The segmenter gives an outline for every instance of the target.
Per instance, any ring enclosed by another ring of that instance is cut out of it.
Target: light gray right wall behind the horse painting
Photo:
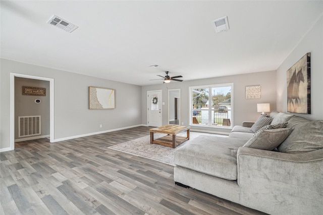
[[[323,18],[307,32],[277,69],[277,110],[287,113],[287,70],[311,52],[311,114],[295,114],[310,120],[323,119]]]

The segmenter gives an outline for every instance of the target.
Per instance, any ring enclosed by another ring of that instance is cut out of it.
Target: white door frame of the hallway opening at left
[[[49,139],[50,142],[54,141],[54,126],[53,126],[53,118],[54,118],[54,80],[50,78],[43,78],[37,76],[29,76],[23,74],[10,74],[10,150],[15,149],[15,118],[18,117],[15,114],[15,78],[25,78],[25,79],[32,79],[32,80],[41,80],[41,81],[48,81],[49,82]],[[37,97],[38,98],[38,97]],[[36,99],[35,99],[36,100]],[[40,100],[41,101],[41,100]],[[35,101],[38,102],[39,101]]]

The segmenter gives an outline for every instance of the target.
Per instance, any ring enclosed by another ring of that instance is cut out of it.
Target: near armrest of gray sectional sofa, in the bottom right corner
[[[270,214],[323,211],[323,149],[286,154],[240,147],[240,203]]]

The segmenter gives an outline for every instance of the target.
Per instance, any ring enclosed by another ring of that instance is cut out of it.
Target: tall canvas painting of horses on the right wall
[[[287,70],[287,111],[311,113],[311,60],[306,53]]]

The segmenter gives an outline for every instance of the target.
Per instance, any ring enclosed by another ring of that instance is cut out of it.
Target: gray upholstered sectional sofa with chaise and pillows
[[[199,135],[178,148],[176,184],[265,213],[323,214],[323,120],[270,117],[267,127],[286,128],[254,133],[244,122],[229,136]]]

